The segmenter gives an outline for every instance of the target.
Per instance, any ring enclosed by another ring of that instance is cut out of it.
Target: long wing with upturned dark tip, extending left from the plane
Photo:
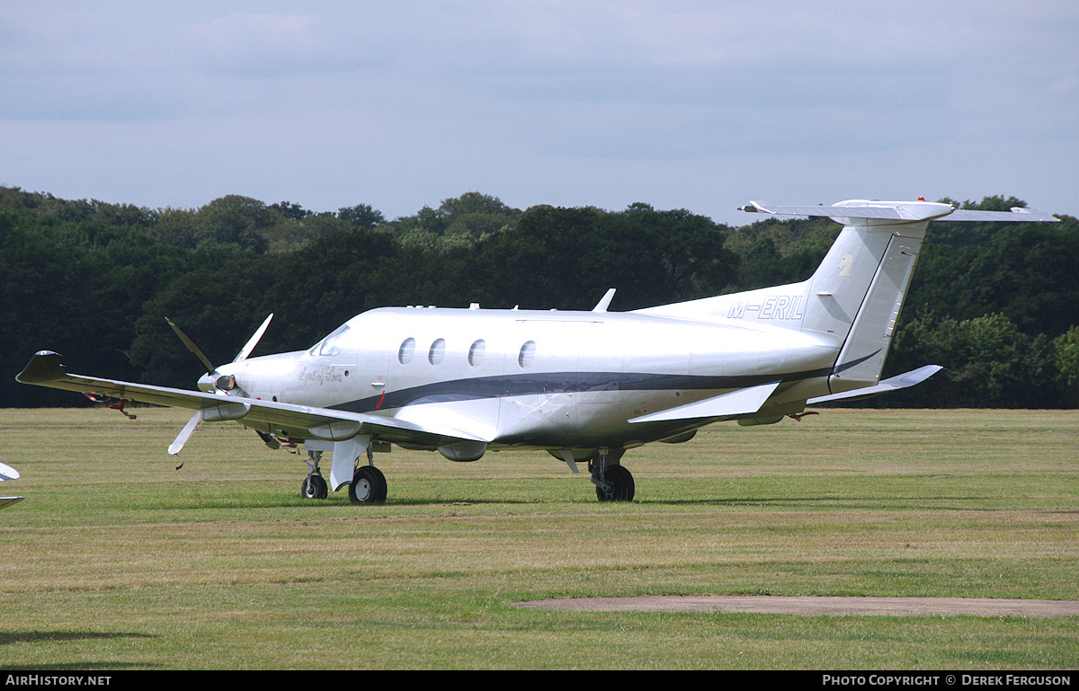
[[[356,434],[372,434],[393,443],[433,446],[459,441],[490,441],[464,430],[437,424],[421,426],[382,415],[69,374],[60,365],[59,356],[49,350],[36,354],[15,378],[23,384],[54,389],[186,407],[199,411],[202,419],[207,421],[238,420],[256,430],[279,429],[285,430],[289,437],[303,439],[314,438],[336,442],[351,439]]]

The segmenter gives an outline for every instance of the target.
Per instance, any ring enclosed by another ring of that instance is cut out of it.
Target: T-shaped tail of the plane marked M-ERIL
[[[742,211],[828,217],[843,224],[814,275],[800,284],[639,309],[641,314],[728,320],[812,334],[838,354],[831,393],[877,384],[930,221],[1054,222],[1041,211],[954,209],[925,202],[855,199],[832,206],[751,202]]]

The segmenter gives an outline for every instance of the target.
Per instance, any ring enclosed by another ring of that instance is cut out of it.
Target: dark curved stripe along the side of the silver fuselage
[[[740,389],[775,382],[777,378],[780,378],[782,382],[797,382],[814,377],[827,377],[830,372],[831,368],[791,372],[781,375],[745,374],[735,376],[625,372],[536,372],[534,374],[505,374],[500,376],[453,379],[452,382],[434,382],[399,391],[386,391],[356,401],[331,405],[330,407],[351,413],[369,413],[377,407],[379,410],[387,410],[420,403],[470,401],[535,393]]]

